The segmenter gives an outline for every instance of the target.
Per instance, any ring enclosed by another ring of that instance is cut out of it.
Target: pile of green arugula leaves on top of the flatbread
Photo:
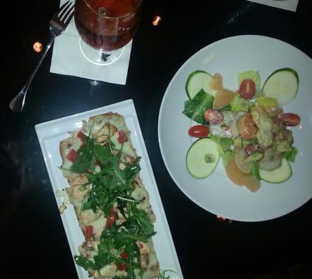
[[[138,202],[132,199],[135,188],[134,181],[140,171],[140,157],[134,162],[127,163],[122,159],[122,149],[115,149],[108,135],[108,144],[101,145],[96,139],[85,136],[85,144],[78,149],[78,158],[71,166],[71,171],[83,173],[87,177],[86,185],[91,185],[82,210],[103,211],[110,216],[111,207],[118,204],[118,209],[126,219],[122,224],[114,223],[104,229],[101,234],[97,255],[93,259],[76,256],[75,261],[84,269],[99,270],[111,262],[127,264],[125,279],[134,278],[134,269],[143,274],[141,269],[140,250],[136,241],[146,242],[155,234],[153,223],[148,213],[137,208]],[[120,168],[120,163],[123,167]],[[101,165],[101,170],[95,172],[95,165]],[[86,172],[86,170],[91,172]],[[120,254],[127,252],[127,257]],[[118,276],[115,278],[118,278]]]

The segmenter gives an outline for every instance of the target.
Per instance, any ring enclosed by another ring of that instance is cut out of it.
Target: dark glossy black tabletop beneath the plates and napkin
[[[0,110],[2,274],[77,278],[34,125],[132,98],[184,277],[311,278],[311,200],[274,220],[221,222],[173,183],[157,139],[166,86],[202,47],[229,36],[256,34],[283,40],[311,57],[309,1],[299,0],[294,13],[238,0],[146,0],[125,86],[106,82],[93,86],[87,79],[52,74],[49,52],[20,114],[10,112],[8,103],[40,58],[33,43],[48,42],[48,24],[59,1],[9,5],[10,13],[1,18],[5,34]],[[153,27],[151,20],[157,14],[162,24]]]

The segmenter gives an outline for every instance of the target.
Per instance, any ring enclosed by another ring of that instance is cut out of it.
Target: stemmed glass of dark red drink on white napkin
[[[142,1],[76,0],[75,24],[86,59],[105,66],[120,58],[139,27]]]

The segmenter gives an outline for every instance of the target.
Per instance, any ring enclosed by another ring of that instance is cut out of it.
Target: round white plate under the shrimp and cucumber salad
[[[290,179],[276,184],[261,181],[260,190],[251,193],[227,178],[221,160],[211,176],[194,179],[185,167],[185,155],[194,142],[187,134],[194,122],[182,113],[188,75],[194,70],[220,73],[224,87],[236,90],[236,74],[243,70],[260,70],[263,84],[274,70],[285,67],[297,71],[299,92],[283,109],[302,119],[299,126],[292,128],[298,154]],[[173,181],[206,211],[250,222],[290,213],[312,197],[312,59],[292,45],[265,36],[234,36],[204,47],[180,67],[167,87],[159,111],[158,137]]]

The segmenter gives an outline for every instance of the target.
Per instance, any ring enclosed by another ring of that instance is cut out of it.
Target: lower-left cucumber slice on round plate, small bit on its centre
[[[204,179],[218,165],[220,158],[219,145],[208,137],[194,142],[186,154],[186,167],[192,176]]]

